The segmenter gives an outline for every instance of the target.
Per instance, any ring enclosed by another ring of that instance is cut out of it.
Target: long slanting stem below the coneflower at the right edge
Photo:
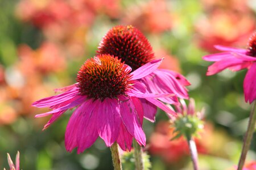
[[[251,138],[253,138],[253,133],[254,133],[255,124],[256,124],[255,105],[256,105],[256,100],[254,101],[253,108],[251,108],[249,124],[247,127],[245,138],[243,139],[243,148],[242,148],[237,170],[242,170],[243,164],[245,164],[247,152],[251,145]]]

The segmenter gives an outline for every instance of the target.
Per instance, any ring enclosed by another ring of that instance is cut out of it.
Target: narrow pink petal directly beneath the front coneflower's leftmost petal
[[[59,113],[62,111],[67,111],[67,109],[76,107],[77,105],[80,105],[82,102],[84,102],[84,100],[86,99],[86,96],[77,96],[76,100],[72,101],[71,103],[68,103],[67,105],[60,107],[60,108],[56,108],[52,111],[46,112],[46,113],[42,113],[42,114],[36,114],[36,118],[38,117],[44,117],[44,116],[48,116],[49,114],[53,114],[53,113]]]

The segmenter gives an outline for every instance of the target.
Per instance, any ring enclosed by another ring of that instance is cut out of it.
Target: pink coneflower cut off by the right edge
[[[243,80],[245,101],[252,103],[256,99],[256,32],[250,37],[247,49],[232,48],[216,45],[216,49],[222,53],[204,56],[206,61],[214,63],[208,67],[207,75],[219,73],[224,69],[239,71],[248,69]]]

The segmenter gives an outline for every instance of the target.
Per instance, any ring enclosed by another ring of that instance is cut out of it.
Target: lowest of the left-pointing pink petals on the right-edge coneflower
[[[222,59],[221,61],[217,61],[208,67],[207,75],[213,75],[219,73],[220,71],[227,69],[229,67],[242,65],[244,63],[243,60],[237,58],[228,58]]]

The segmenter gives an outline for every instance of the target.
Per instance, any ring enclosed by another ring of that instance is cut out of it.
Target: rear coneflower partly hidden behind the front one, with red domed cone
[[[137,70],[154,59],[154,52],[150,42],[137,28],[132,25],[119,25],[109,30],[98,46],[97,54],[117,56],[132,71]],[[147,91],[154,94],[170,93],[176,96],[159,97],[159,100],[168,104],[179,104],[177,97],[188,99],[185,86],[190,83],[183,75],[166,69],[156,69],[151,74],[138,79],[147,87]],[[140,99],[146,111],[144,116],[154,122],[156,107],[147,100]]]

